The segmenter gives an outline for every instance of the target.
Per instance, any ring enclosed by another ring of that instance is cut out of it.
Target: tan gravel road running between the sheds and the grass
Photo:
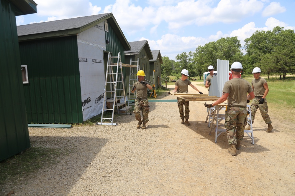
[[[29,128],[32,146],[66,149],[68,155],[17,184],[0,186],[0,195],[295,195],[294,121],[285,124],[270,111],[274,129],[266,133],[258,112],[255,144],[245,134],[232,156],[225,133],[217,143],[209,135],[206,109],[190,102],[190,126],[180,123],[176,102],[150,102],[145,130],[136,128],[134,114],[120,115],[117,126]]]

